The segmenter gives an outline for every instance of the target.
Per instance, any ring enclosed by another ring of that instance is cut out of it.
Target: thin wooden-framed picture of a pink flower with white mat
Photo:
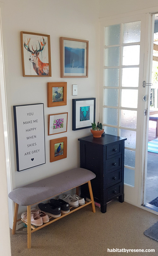
[[[51,114],[48,117],[48,135],[67,132],[68,112]]]

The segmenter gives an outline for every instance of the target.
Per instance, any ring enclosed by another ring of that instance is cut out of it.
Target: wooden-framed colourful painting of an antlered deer
[[[21,31],[23,77],[51,77],[50,36]]]

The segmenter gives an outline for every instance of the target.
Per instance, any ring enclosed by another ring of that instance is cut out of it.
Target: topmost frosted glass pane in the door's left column
[[[121,25],[112,25],[106,27],[105,30],[105,45],[119,44]]]

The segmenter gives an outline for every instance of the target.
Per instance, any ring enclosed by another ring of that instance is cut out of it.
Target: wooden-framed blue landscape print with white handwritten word
[[[60,37],[60,77],[88,77],[89,41]]]

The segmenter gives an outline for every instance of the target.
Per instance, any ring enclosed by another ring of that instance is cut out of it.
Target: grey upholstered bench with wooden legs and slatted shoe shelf
[[[95,178],[95,174],[87,169],[75,168],[62,172],[46,179],[39,180],[37,182],[25,185],[9,193],[9,198],[15,202],[14,222],[12,234],[15,234],[16,223],[22,219],[17,219],[19,205],[27,206],[27,247],[31,248],[31,233],[35,232],[58,219],[65,217],[66,215],[75,212],[82,207],[92,204],[92,210],[95,212],[95,205],[91,187],[91,179]],[[88,183],[89,193],[91,201],[86,202],[85,205],[81,205],[77,208],[70,207],[70,212],[61,214],[60,217],[53,219],[50,217],[50,221],[39,227],[31,225],[31,206],[38,204],[44,200],[55,197],[61,193],[64,193],[70,189],[76,188],[78,193],[78,187]],[[52,219],[52,220],[51,220]]]

